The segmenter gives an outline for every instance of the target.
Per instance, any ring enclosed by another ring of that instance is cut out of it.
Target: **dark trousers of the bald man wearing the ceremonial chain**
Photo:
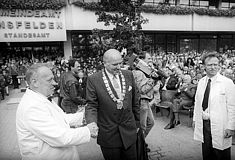
[[[136,143],[129,148],[106,148],[101,146],[105,160],[137,160]]]

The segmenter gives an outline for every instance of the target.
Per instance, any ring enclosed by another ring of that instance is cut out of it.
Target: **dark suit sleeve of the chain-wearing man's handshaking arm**
[[[85,109],[86,122],[97,123],[98,98],[91,77],[87,78],[86,100],[87,100],[87,106]]]

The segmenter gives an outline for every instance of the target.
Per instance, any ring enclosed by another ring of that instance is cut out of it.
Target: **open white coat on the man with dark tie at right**
[[[195,96],[194,139],[203,142],[202,101],[207,85],[207,78],[203,77],[197,86]],[[224,150],[231,147],[232,137],[224,138],[225,129],[235,129],[235,85],[219,73],[215,81],[211,82],[209,96],[209,114],[213,148]]]

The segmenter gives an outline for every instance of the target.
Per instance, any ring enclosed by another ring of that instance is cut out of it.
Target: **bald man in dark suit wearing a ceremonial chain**
[[[97,143],[106,160],[136,160],[139,104],[131,71],[121,70],[122,57],[110,49],[104,69],[88,77],[86,121],[96,122]]]

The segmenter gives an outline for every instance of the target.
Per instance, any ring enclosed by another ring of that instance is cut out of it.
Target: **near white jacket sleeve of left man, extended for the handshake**
[[[63,114],[37,104],[28,108],[23,116],[27,128],[50,146],[66,147],[89,142],[88,127],[70,128]]]

